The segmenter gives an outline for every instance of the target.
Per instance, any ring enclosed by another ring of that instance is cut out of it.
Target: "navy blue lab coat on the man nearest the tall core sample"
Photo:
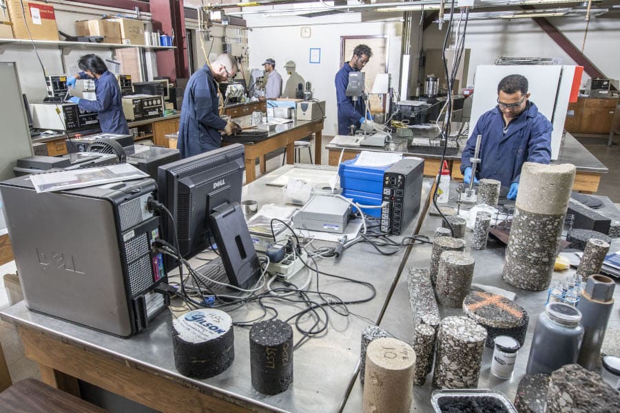
[[[552,130],[549,120],[532,102],[506,127],[504,116],[496,106],[480,116],[467,140],[461,156],[461,173],[471,167],[469,158],[475,153],[476,136],[482,134],[477,178],[496,179],[502,186],[510,187],[513,182],[519,182],[524,162],[548,164],[551,161]]]

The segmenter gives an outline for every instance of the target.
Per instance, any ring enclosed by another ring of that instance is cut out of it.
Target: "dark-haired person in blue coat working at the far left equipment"
[[[87,100],[72,96],[69,100],[80,109],[88,112],[97,112],[99,126],[105,134],[129,134],[127,120],[123,114],[121,102],[121,87],[118,86],[116,76],[107,71],[103,60],[95,54],[85,54],[78,61],[78,67],[83,71],[74,76],[67,76],[67,86],[75,87],[77,79],[93,78],[95,82],[96,100]]]

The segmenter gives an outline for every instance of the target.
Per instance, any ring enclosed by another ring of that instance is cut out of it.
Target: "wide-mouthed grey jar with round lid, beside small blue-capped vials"
[[[583,327],[581,313],[564,303],[549,303],[534,329],[527,374],[551,374],[566,364],[577,363]]]

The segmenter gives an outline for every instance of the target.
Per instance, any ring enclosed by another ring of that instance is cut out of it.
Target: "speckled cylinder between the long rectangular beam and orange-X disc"
[[[460,308],[469,294],[475,260],[459,251],[446,251],[440,256],[435,295],[440,304]]]

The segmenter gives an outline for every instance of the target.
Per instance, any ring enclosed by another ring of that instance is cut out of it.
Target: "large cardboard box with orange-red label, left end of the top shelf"
[[[59,40],[54,6],[39,1],[23,0],[22,10],[20,0],[8,0],[6,3],[9,17],[13,23],[15,39],[30,39],[28,35],[28,29],[30,29],[30,34],[34,40]],[[28,28],[26,24],[28,24]]]

